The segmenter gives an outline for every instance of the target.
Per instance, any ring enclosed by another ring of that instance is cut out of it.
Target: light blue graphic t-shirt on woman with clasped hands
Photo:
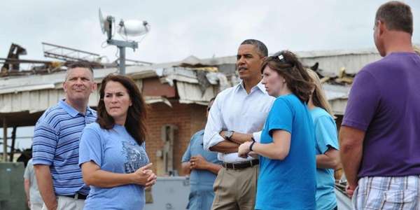
[[[123,125],[114,125],[111,130],[102,129],[98,123],[86,125],[79,148],[79,165],[93,161],[102,170],[116,174],[136,172],[149,162],[145,143],[137,144]],[[144,204],[144,186],[91,186],[83,209],[144,209]]]

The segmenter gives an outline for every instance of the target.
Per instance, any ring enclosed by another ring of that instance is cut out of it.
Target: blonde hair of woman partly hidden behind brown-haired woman
[[[309,77],[311,77],[312,83],[314,83],[315,90],[311,94],[312,102],[315,106],[320,107],[327,111],[330,116],[334,117],[334,113],[332,113],[331,105],[328,103],[327,97],[325,97],[325,92],[322,89],[321,80],[319,79],[318,75],[315,71],[311,69],[307,69]]]

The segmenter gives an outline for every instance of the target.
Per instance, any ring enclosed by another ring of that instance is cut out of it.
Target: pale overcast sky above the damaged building
[[[1,0],[0,57],[18,43],[28,52],[22,59],[47,59],[41,45],[47,42],[115,60],[115,46],[102,48],[99,7],[117,21],[150,23],[139,49],[127,49],[127,58],[147,62],[235,55],[246,38],[263,41],[269,52],[373,48],[374,13],[384,2]],[[420,1],[405,2],[414,13],[413,41],[420,43]]]

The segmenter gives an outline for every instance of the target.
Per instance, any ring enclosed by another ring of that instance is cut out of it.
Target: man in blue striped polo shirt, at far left
[[[43,209],[83,209],[89,187],[78,167],[78,148],[83,128],[96,120],[96,111],[87,106],[96,87],[88,64],[72,64],[63,83],[65,98],[35,125],[32,162]]]

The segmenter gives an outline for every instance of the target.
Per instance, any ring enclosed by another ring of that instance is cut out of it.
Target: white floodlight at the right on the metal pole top
[[[141,36],[150,31],[148,22],[141,20],[121,20],[118,25],[118,34],[123,36]]]

